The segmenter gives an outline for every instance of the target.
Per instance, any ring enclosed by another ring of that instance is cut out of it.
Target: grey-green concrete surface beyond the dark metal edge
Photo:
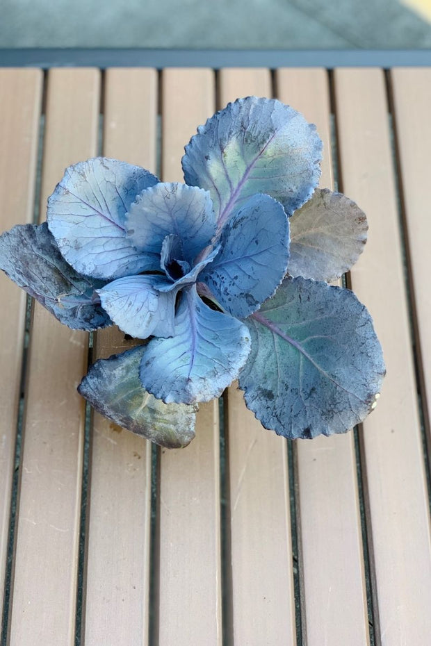
[[[431,25],[397,0],[0,0],[0,47],[420,49]]]

